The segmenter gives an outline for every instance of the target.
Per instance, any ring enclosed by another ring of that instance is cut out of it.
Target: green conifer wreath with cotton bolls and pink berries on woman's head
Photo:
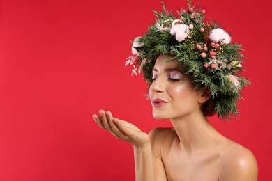
[[[229,33],[220,24],[206,21],[205,10],[192,6],[181,9],[176,17],[172,11],[153,11],[156,22],[147,33],[133,41],[133,55],[125,65],[133,65],[132,74],[143,72],[146,82],[152,82],[152,69],[160,55],[172,55],[166,62],[176,59],[192,73],[195,88],[209,86],[213,99],[213,110],[222,120],[238,116],[237,100],[241,89],[250,84],[241,76],[244,71],[241,45],[231,43]]]

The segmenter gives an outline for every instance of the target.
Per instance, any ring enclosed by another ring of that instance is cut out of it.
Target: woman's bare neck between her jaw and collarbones
[[[221,136],[202,114],[171,120],[179,137],[179,148],[192,153],[213,148]]]

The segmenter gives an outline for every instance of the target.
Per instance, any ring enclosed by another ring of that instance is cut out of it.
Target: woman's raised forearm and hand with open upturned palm
[[[133,145],[136,180],[155,180],[149,135],[131,123],[114,118],[109,111],[99,113],[100,117],[93,115],[93,119],[102,129]]]

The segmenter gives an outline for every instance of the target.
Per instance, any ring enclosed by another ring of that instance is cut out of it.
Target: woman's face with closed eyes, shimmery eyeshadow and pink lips
[[[156,119],[175,119],[199,113],[199,93],[194,89],[192,77],[184,74],[181,63],[165,61],[169,56],[159,56],[153,68],[153,81],[149,97]]]

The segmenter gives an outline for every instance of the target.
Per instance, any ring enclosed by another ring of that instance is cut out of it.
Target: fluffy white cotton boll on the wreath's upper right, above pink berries
[[[231,38],[223,29],[213,29],[209,35],[212,42],[220,42],[221,44],[229,44]]]

